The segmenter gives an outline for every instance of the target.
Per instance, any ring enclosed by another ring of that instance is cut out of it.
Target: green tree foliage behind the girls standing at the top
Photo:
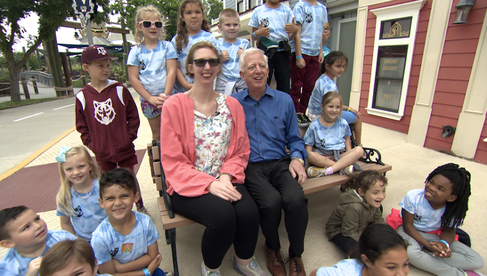
[[[112,14],[120,14],[125,20],[126,27],[130,28],[132,33],[135,33],[134,20],[137,8],[147,5],[156,6],[164,19],[167,20],[165,40],[170,41],[172,37],[176,36],[180,3],[180,0],[115,0],[110,5],[110,10]],[[203,6],[206,12],[205,16],[211,23],[212,19],[218,18],[218,14],[223,9],[223,2],[222,0],[203,0]]]

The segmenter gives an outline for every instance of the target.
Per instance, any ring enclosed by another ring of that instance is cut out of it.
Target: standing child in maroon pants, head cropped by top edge
[[[323,29],[329,28],[326,7],[316,0],[300,0],[294,6],[298,33],[291,43],[291,97],[296,108],[299,127],[306,127],[311,120],[306,116],[309,97],[320,77],[323,63]]]

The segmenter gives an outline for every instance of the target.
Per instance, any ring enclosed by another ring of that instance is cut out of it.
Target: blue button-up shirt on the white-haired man
[[[290,95],[274,90],[268,85],[259,100],[249,95],[249,89],[232,94],[245,112],[245,126],[249,133],[249,163],[279,160],[287,155],[291,158],[308,156],[304,140],[299,135],[296,110]]]

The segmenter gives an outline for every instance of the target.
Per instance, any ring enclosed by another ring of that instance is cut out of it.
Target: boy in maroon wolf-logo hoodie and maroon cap
[[[141,121],[128,89],[108,79],[110,62],[116,59],[101,46],[86,47],[81,53],[81,63],[91,82],[76,94],[76,129],[83,144],[95,154],[101,172],[119,166],[129,169],[135,178],[137,157],[133,141]],[[136,206],[138,212],[149,215],[142,196]]]

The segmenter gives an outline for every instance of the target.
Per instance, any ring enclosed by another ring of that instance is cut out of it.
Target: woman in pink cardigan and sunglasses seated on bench
[[[259,213],[243,181],[250,155],[240,103],[213,89],[219,55],[208,42],[187,57],[193,88],[170,96],[162,106],[161,151],[167,192],[176,213],[206,226],[201,241],[201,275],[220,275],[233,243],[233,267],[266,275],[255,261]]]

